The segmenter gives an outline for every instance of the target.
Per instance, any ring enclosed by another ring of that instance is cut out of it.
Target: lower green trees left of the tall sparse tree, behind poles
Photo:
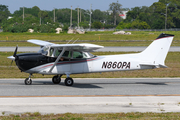
[[[24,9],[24,10],[23,10]],[[23,20],[24,11],[24,20]],[[72,10],[72,27],[78,26],[78,8]],[[99,9],[91,11],[91,28],[115,28],[113,24],[113,14]],[[63,27],[66,32],[70,26],[71,9],[55,9],[52,11],[40,10],[39,7],[32,8],[21,7],[11,14],[8,6],[0,5],[0,26],[4,32],[27,32],[29,28],[34,29],[35,32],[51,33],[55,32],[55,28]],[[54,22],[55,13],[55,22]],[[4,16],[3,16],[4,15]],[[9,16],[12,18],[8,19]],[[120,18],[116,20],[120,22]],[[79,26],[89,28],[90,25],[90,11],[79,10]]]

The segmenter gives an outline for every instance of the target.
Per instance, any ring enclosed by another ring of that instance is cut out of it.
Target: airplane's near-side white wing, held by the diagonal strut
[[[97,50],[100,48],[104,48],[104,46],[89,44],[89,43],[81,43],[81,44],[53,44],[52,48],[66,48],[66,50],[77,50],[77,51],[85,51],[90,52],[93,50]]]

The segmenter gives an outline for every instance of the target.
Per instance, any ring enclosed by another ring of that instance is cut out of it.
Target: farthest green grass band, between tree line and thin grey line
[[[127,31],[128,32],[128,31]],[[132,31],[132,35],[113,35],[113,31],[87,32],[87,34],[55,34],[55,33],[0,33],[0,40],[154,40],[165,31]],[[151,34],[153,33],[153,34]],[[175,40],[180,40],[179,31],[166,31],[167,34],[174,34]]]

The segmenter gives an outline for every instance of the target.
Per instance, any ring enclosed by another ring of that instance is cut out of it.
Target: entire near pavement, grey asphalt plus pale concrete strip
[[[73,86],[51,78],[0,79],[0,115],[40,112],[180,112],[180,78],[75,78]]]

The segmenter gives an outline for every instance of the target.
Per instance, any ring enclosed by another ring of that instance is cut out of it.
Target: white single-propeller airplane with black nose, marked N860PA
[[[15,61],[22,72],[29,73],[25,85],[32,84],[33,74],[42,74],[55,75],[52,78],[54,84],[59,84],[62,75],[66,75],[64,84],[72,86],[71,74],[167,68],[164,61],[173,38],[174,35],[162,33],[140,53],[105,56],[90,53],[103,48],[95,44],[54,44],[31,39],[27,42],[41,47],[37,53],[17,54],[17,46],[13,56],[8,58]]]

